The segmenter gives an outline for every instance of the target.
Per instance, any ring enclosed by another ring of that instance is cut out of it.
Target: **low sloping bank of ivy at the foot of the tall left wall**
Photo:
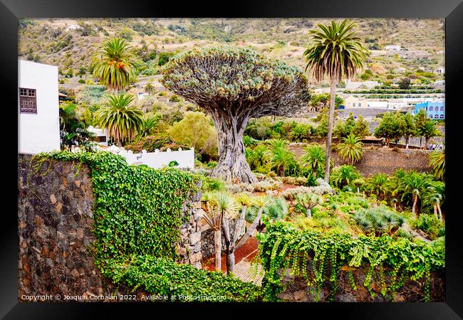
[[[104,274],[115,284],[142,288],[153,295],[166,295],[168,302],[258,302],[260,288],[221,272],[198,270],[151,255],[110,260]],[[223,297],[223,298],[222,298]]]

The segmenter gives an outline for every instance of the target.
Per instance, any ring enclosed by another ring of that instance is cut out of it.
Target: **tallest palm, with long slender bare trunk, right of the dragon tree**
[[[323,80],[325,75],[328,75],[331,80],[328,137],[326,139],[326,182],[329,181],[330,176],[336,83],[340,82],[343,76],[347,79],[352,78],[358,68],[363,68],[363,63],[368,57],[368,50],[363,47],[355,31],[352,31],[354,26],[355,24],[348,20],[341,23],[331,21],[328,26],[318,24],[319,30],[308,31],[313,43],[303,53],[307,60],[306,70],[309,69],[317,81]]]

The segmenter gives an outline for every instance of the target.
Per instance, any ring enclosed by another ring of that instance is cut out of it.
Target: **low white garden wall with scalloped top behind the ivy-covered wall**
[[[128,164],[145,164],[151,168],[159,169],[162,166],[168,166],[170,162],[177,161],[177,168],[194,169],[194,149],[178,151],[160,151],[156,149],[155,152],[147,152],[142,150],[140,154],[134,154],[132,150],[126,151],[124,148],[118,148],[114,144],[108,149],[114,154],[119,154],[127,160]]]

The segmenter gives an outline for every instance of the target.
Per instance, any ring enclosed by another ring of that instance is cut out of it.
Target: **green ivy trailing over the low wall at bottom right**
[[[332,300],[343,265],[365,268],[363,285],[374,294],[375,282],[383,297],[390,297],[407,279],[425,279],[425,300],[430,301],[430,272],[442,271],[445,262],[444,250],[425,242],[394,240],[389,235],[353,238],[348,233],[298,230],[283,221],[269,225],[266,233],[259,235],[259,242],[265,270],[262,287],[269,301],[277,301],[277,295],[283,292],[281,272],[286,269],[306,279],[308,286],[318,292],[328,287],[328,299]],[[312,263],[310,274],[308,260]],[[385,281],[385,272],[391,276],[390,283]],[[353,274],[348,274],[348,279],[352,289],[357,289]]]

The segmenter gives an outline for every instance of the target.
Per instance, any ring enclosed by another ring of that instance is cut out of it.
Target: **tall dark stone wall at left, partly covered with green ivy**
[[[107,153],[19,155],[18,169],[19,299],[128,293],[171,299],[211,287],[230,291],[231,301],[258,296],[251,284],[196,269],[202,242],[194,175],[128,166]]]

